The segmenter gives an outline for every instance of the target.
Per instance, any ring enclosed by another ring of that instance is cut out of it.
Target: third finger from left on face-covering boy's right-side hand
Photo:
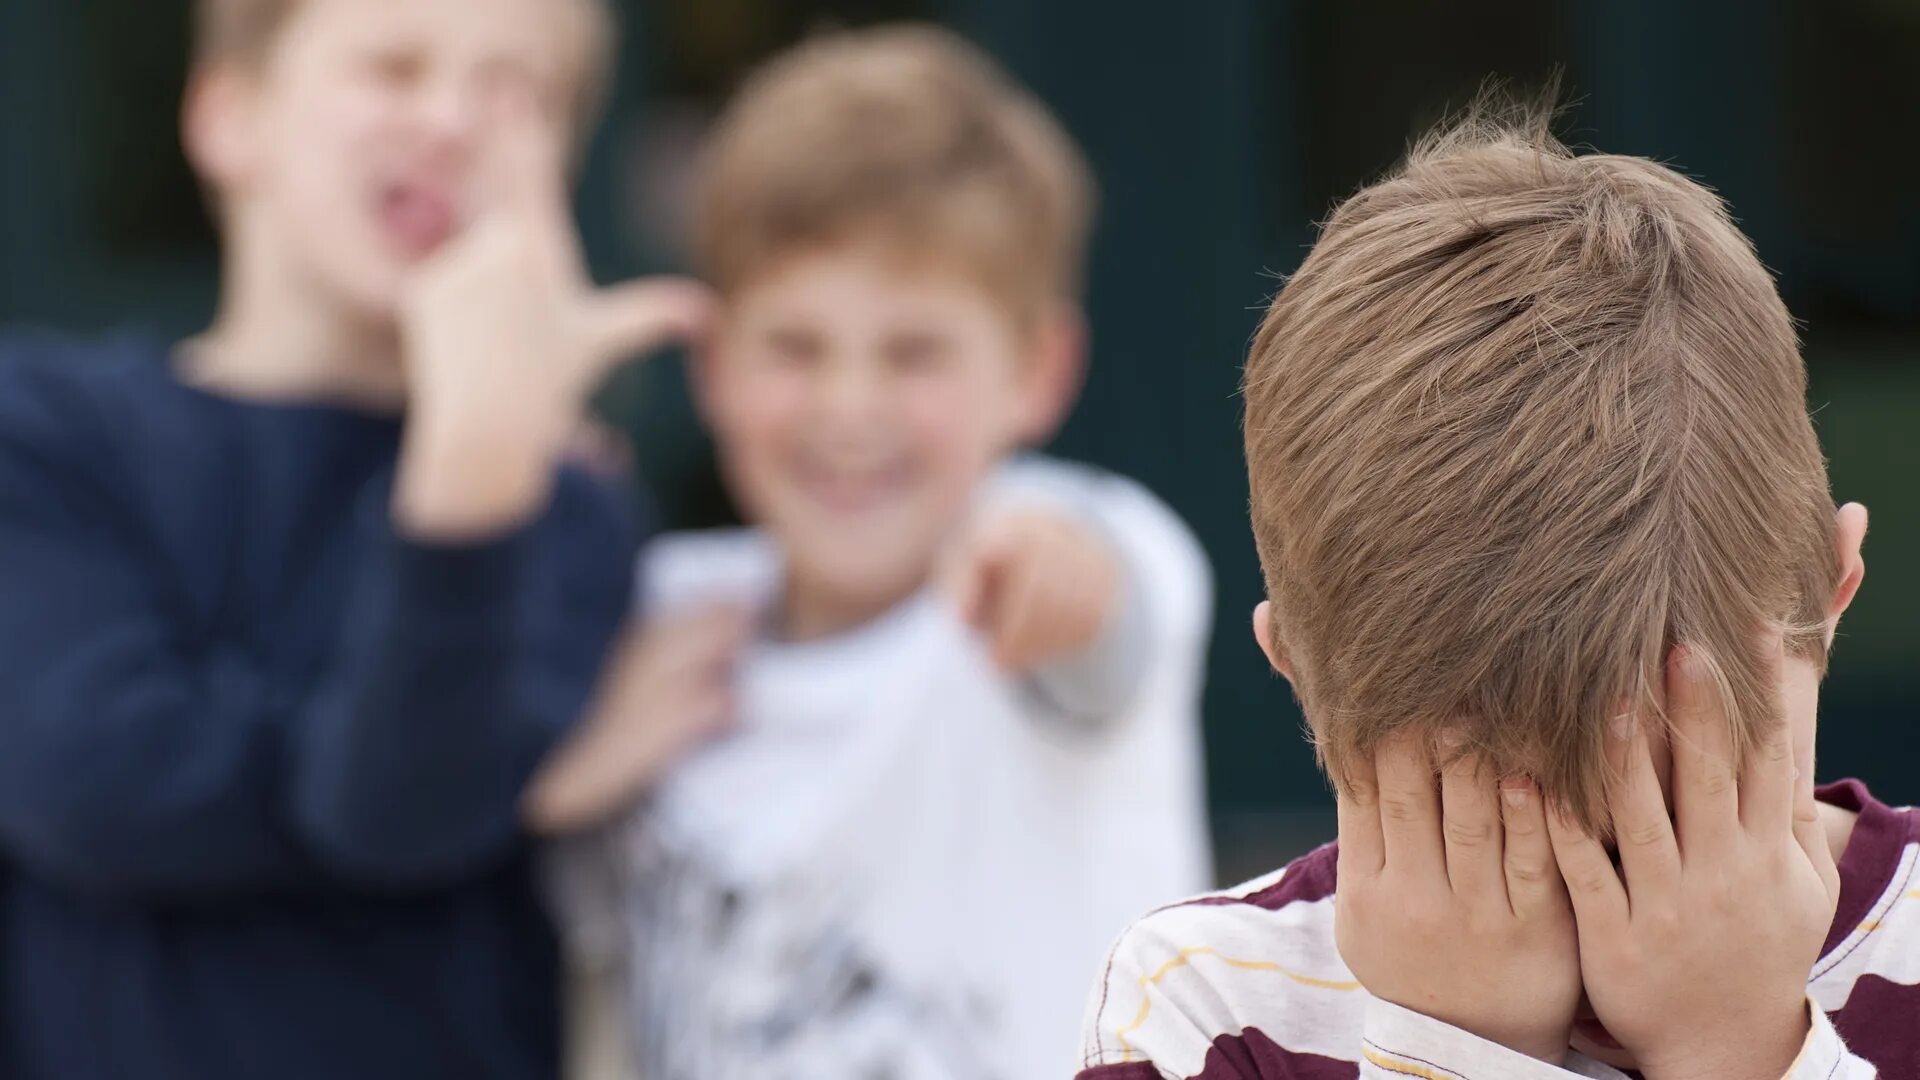
[[[1724,849],[1740,824],[1734,724],[1707,657],[1667,655],[1667,717],[1674,751],[1674,819],[1682,851]]]

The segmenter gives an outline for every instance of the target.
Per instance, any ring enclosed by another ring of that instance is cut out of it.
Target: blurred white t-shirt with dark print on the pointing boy
[[[983,498],[1058,507],[1116,544],[1137,655],[1083,678],[1131,694],[1068,715],[931,592],[831,640],[753,646],[737,728],[618,838],[647,1080],[1069,1074],[1108,944],[1208,888],[1200,548],[1142,488],[1085,467],[1023,459]],[[751,530],[666,536],[643,601],[768,605],[780,573]]]

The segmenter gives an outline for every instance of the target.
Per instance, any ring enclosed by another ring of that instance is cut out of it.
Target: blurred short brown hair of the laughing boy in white
[[[1031,313],[1077,292],[1091,211],[1073,142],[977,48],[925,25],[841,31],[770,61],[720,119],[695,258],[728,292],[874,240]]]

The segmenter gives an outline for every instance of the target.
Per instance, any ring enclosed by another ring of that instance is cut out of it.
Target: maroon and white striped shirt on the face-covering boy
[[[1789,1080],[1920,1078],[1920,813],[1859,780],[1839,909],[1807,980],[1812,1032]],[[1162,907],[1114,945],[1087,1013],[1079,1080],[1620,1078],[1555,1068],[1371,997],[1332,936],[1334,846],[1223,894]]]

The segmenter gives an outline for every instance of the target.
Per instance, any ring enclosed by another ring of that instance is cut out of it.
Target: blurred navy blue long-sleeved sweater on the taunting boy
[[[557,1072],[515,803],[632,528],[564,473],[511,536],[409,542],[399,430],[0,340],[0,1076]]]

